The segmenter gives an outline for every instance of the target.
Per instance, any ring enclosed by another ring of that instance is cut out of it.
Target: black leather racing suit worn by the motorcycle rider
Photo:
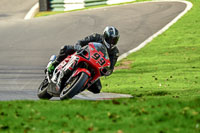
[[[76,45],[80,45],[81,47],[83,47],[85,45],[88,45],[89,42],[99,42],[99,43],[104,44],[103,36],[100,35],[100,34],[94,33],[94,34],[92,34],[90,36],[85,37],[82,40],[79,40]],[[59,55],[58,55],[58,57],[56,59],[56,64],[57,63],[59,64],[68,55],[73,54],[76,51],[75,47],[76,46],[71,46],[71,45],[63,46],[60,49],[60,53],[59,53]],[[110,70],[111,70],[111,73],[112,73],[113,70],[114,70],[114,66],[115,66],[115,64],[117,62],[117,59],[119,57],[119,50],[118,50],[117,47],[114,47],[112,49],[107,49],[107,50],[108,50],[108,54],[109,54],[109,58],[110,58],[110,62],[111,62]],[[101,82],[100,82],[100,79],[99,79],[91,87],[89,87],[88,90],[93,92],[93,93],[99,93],[101,88],[102,88],[102,85],[101,85]]]

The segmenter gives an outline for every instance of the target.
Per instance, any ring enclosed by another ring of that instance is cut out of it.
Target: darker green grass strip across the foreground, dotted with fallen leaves
[[[15,101],[0,104],[0,132],[199,132],[200,98]]]

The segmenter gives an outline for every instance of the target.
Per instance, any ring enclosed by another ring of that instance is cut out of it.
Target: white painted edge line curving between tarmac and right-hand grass
[[[167,29],[169,29],[170,26],[172,26],[174,23],[176,23],[183,15],[185,15],[193,6],[193,4],[189,1],[184,1],[184,0],[156,0],[156,1],[149,1],[149,2],[182,2],[186,4],[186,8],[183,12],[181,12],[176,18],[174,18],[171,22],[169,22],[166,26],[164,26],[161,30],[159,30],[158,32],[156,32],[155,34],[153,34],[152,36],[150,36],[148,39],[146,39],[144,42],[142,42],[139,46],[137,46],[136,48],[128,51],[127,53],[122,54],[121,56],[119,56],[117,61],[120,61],[124,58],[126,58],[128,55],[130,55],[131,53],[134,53],[138,50],[140,50],[141,48],[143,48],[145,45],[147,45],[149,42],[151,42],[154,38],[156,38],[158,35],[162,34],[163,32],[165,32]],[[149,2],[139,2],[139,3],[149,3]],[[138,4],[139,4],[138,3]],[[136,3],[135,3],[136,4]]]

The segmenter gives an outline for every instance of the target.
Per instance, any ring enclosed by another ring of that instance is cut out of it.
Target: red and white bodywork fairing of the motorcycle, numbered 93
[[[69,71],[74,72],[72,76],[69,77],[68,81],[81,72],[84,72],[91,77],[88,81],[88,84],[85,84],[85,88],[90,87],[94,82],[96,82],[101,77],[100,71],[103,68],[110,66],[110,60],[108,58],[108,54],[106,53],[107,50],[101,52],[101,47],[103,47],[103,45],[100,43],[89,43],[88,46],[84,47],[81,51],[75,52],[74,54],[65,58],[53,72],[53,77],[51,78],[52,83],[49,85],[49,91],[54,93],[54,95],[59,94],[61,80]],[[81,62],[88,64],[89,68],[92,68],[95,74],[92,75],[91,72],[86,68],[77,68],[77,65],[79,65]]]

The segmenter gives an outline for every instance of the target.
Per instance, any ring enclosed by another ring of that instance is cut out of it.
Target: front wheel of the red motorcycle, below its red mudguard
[[[84,72],[73,78],[72,81],[63,88],[60,93],[60,99],[69,99],[78,94],[83,89],[87,80],[88,75]]]

